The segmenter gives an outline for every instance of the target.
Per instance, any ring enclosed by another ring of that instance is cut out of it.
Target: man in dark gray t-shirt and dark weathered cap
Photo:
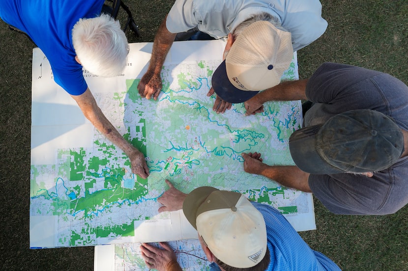
[[[245,102],[308,99],[303,128],[289,139],[295,166],[268,166],[243,153],[244,170],[312,192],[335,214],[386,215],[408,203],[408,86],[355,66],[324,63],[311,78],[281,83]],[[273,155],[273,153],[268,154]]]

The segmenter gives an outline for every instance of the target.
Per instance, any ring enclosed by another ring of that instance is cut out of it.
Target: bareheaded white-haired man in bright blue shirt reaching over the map
[[[83,76],[83,67],[99,76],[116,76],[126,65],[126,36],[119,22],[101,14],[104,2],[0,0],[0,18],[27,33],[47,56],[55,82],[78,103],[96,129],[127,154],[132,172],[146,178],[145,156],[105,117]]]

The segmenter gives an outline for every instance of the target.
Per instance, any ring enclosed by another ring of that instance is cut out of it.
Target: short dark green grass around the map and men
[[[151,42],[171,0],[127,0]],[[408,83],[405,0],[322,0],[329,26],[298,52],[301,78],[332,61],[392,74]],[[93,270],[93,247],[29,249],[31,49],[0,22],[0,270]],[[338,216],[315,199],[318,229],[301,233],[344,271],[408,271],[408,207],[389,216]]]

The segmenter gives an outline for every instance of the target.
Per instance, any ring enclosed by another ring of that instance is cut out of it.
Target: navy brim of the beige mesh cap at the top
[[[244,91],[236,88],[228,79],[225,60],[212,75],[211,85],[221,99],[230,103],[247,101],[259,93],[259,91]]]

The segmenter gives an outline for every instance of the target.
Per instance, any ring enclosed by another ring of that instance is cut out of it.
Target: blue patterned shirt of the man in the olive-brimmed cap
[[[275,208],[252,202],[266,223],[270,263],[266,271],[340,271],[329,258],[311,249],[296,230]],[[219,271],[216,264],[211,271]]]

